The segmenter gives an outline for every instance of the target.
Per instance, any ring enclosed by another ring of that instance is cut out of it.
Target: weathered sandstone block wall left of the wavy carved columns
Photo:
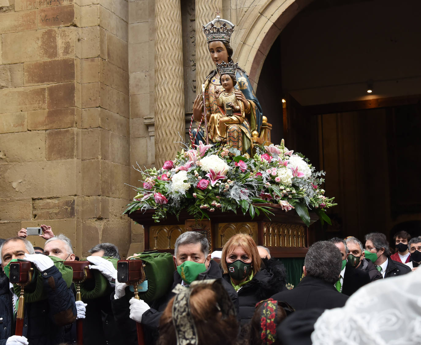
[[[77,255],[99,242],[125,255],[128,2],[0,6],[1,237],[49,224],[69,236]]]

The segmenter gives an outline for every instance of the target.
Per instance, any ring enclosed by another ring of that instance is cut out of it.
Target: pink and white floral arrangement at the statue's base
[[[330,223],[325,210],[334,198],[325,197],[320,188],[325,172],[315,172],[302,154],[280,145],[255,146],[253,157],[241,156],[229,146],[194,145],[177,153],[160,169],[138,170],[143,186],[125,213],[154,209],[156,222],[172,213],[179,216],[187,210],[196,219],[209,218],[208,213],[241,209],[253,218],[261,212],[273,214],[272,202],[286,212],[295,208],[305,224],[310,224],[309,210]],[[260,204],[260,205],[256,205]],[[270,217],[270,216],[269,216]]]

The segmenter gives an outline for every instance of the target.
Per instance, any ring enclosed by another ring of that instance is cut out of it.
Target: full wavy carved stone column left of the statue
[[[184,137],[184,75],[180,0],[155,0],[155,157],[173,159]]]

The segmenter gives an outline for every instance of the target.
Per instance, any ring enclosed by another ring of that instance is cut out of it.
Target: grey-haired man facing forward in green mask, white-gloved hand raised
[[[187,231],[181,234],[174,245],[174,283],[168,295],[161,301],[149,307],[144,301],[131,299],[130,318],[142,323],[150,330],[156,331],[161,315],[170,299],[174,296],[172,290],[177,284],[189,287],[195,280],[218,279],[226,289],[234,303],[238,315],[238,298],[231,284],[222,279],[219,265],[210,259],[209,242],[200,232]]]

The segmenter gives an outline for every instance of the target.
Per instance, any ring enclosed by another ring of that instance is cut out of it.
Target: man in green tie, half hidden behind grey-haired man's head
[[[342,294],[351,296],[361,286],[370,283],[370,276],[367,272],[356,270],[354,267],[346,265],[349,250],[345,240],[339,237],[333,237],[330,239],[330,242],[333,242],[336,247],[339,248],[342,257],[341,275],[339,276],[339,280],[335,283],[335,287]]]

